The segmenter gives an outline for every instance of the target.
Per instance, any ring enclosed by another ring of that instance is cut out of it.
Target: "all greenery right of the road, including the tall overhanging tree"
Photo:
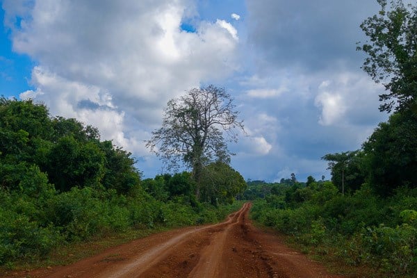
[[[363,70],[391,113],[361,149],[325,154],[332,180],[250,181],[252,218],[291,236],[304,252],[351,265],[358,277],[417,276],[417,6],[378,0],[361,24]]]

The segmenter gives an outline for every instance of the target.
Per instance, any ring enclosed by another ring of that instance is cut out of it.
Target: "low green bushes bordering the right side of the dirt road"
[[[367,185],[343,196],[332,181],[263,187],[271,193],[254,201],[252,218],[291,235],[305,252],[367,265],[373,269],[367,277],[415,277],[416,189],[397,188],[391,197],[380,197]]]

